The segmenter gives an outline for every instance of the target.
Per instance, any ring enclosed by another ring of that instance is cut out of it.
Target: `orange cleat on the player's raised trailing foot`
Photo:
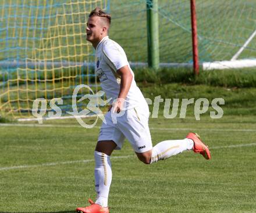
[[[195,153],[200,153],[207,160],[211,159],[211,153],[208,149],[208,146],[205,145],[202,142],[202,140],[200,140],[200,136],[197,133],[190,132],[189,135],[186,136],[186,138],[193,140],[194,142],[193,150]]]

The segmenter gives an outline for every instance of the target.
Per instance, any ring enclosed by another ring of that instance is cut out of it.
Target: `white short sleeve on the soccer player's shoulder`
[[[118,44],[107,42],[102,45],[102,52],[105,62],[112,70],[117,71],[129,64],[125,51]]]

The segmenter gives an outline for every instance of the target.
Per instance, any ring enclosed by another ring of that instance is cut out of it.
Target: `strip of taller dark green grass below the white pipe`
[[[191,85],[224,86],[227,88],[251,88],[256,87],[256,68],[237,70],[200,70],[195,76],[193,70],[187,68],[135,68],[137,82],[157,84],[182,83]]]

